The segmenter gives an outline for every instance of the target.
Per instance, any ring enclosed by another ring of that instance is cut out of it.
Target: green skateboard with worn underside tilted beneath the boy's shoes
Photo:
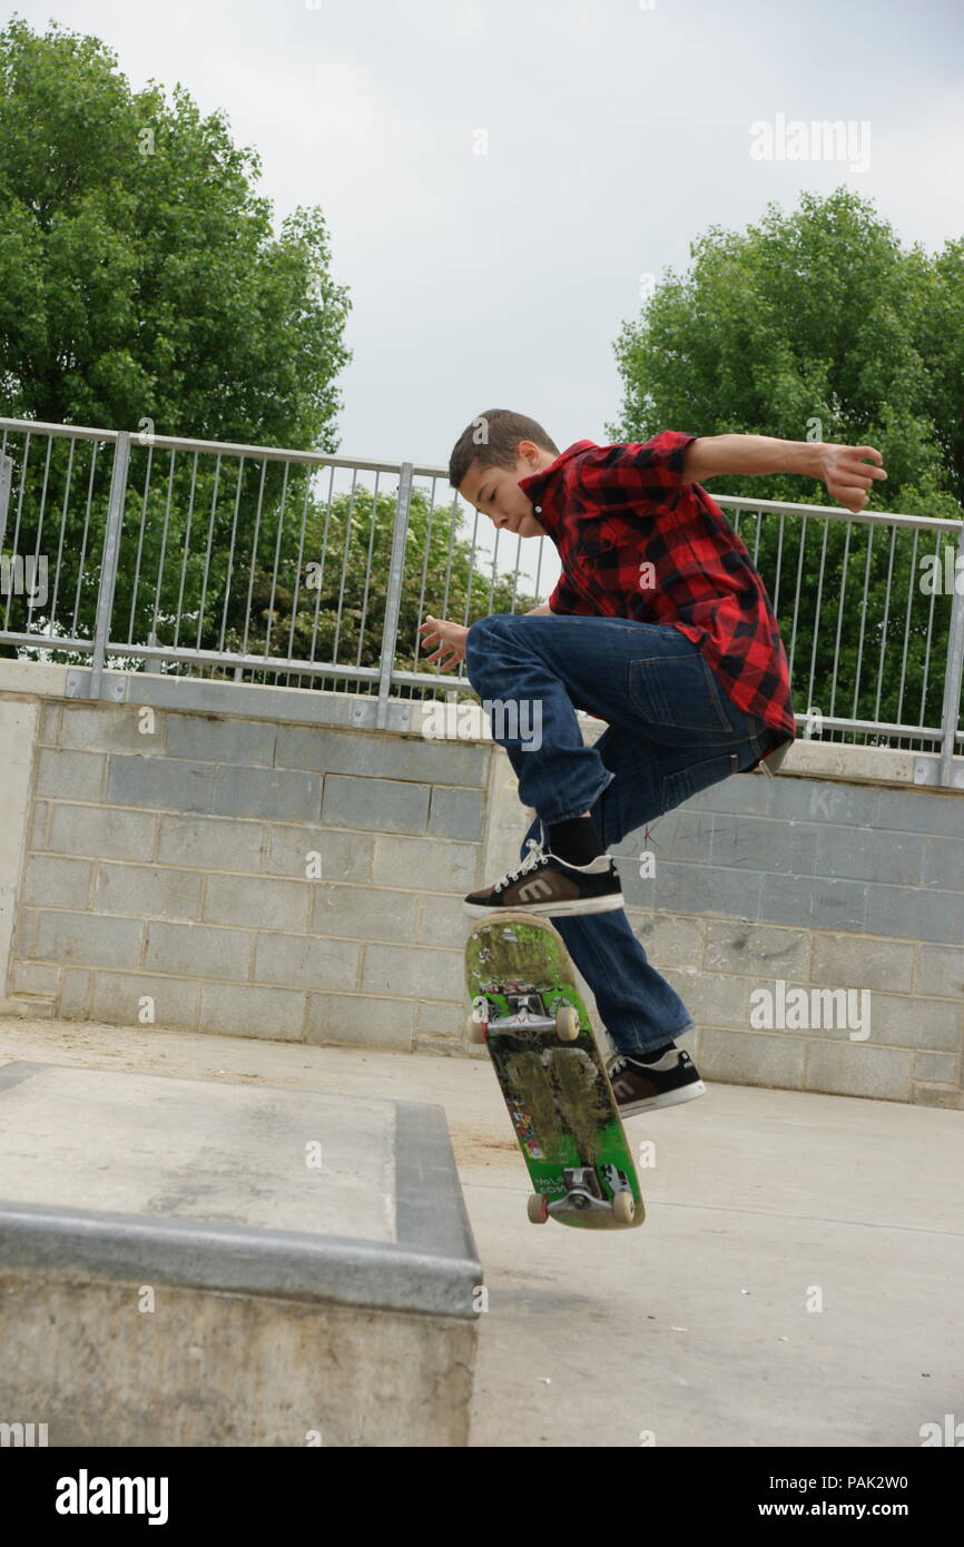
[[[484,1043],[542,1225],[617,1230],[645,1219],[636,1168],[559,930],[500,911],[466,942],[469,1038]]]

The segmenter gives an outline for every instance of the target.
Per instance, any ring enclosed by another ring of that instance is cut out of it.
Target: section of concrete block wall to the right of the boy
[[[964,792],[740,775],[613,852],[707,1078],[964,1106]],[[805,990],[802,1024],[757,1029],[758,990]]]

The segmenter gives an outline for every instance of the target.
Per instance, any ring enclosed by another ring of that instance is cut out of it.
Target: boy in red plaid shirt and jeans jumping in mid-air
[[[630,928],[608,848],[730,774],[766,769],[795,736],[774,610],[701,480],[806,473],[857,512],[887,476],[865,458],[882,463],[871,446],[675,430],[560,452],[508,408],[480,415],[452,450],[449,483],[469,504],[500,529],[549,537],[562,558],[555,589],[531,613],[419,627],[439,670],[464,657],[481,699],[529,709],[492,724],[537,814],[521,865],[464,907],[552,919],[617,1049],[607,1069],[624,1117],[689,1101],[704,1084],[675,1041],[693,1021]],[[594,747],[576,709],[608,721]],[[526,741],[509,733],[523,722],[537,727]]]

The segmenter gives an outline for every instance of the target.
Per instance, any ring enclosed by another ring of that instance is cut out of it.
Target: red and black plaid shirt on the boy
[[[699,645],[733,704],[786,732],[783,746],[797,722],[780,625],[720,506],[682,481],[693,439],[662,430],[645,444],[576,441],[518,480],[562,558],[549,606],[672,623]]]

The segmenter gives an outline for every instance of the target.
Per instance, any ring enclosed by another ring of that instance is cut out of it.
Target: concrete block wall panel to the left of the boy
[[[461,1041],[491,752],[43,704],[9,993],[116,1024]]]

